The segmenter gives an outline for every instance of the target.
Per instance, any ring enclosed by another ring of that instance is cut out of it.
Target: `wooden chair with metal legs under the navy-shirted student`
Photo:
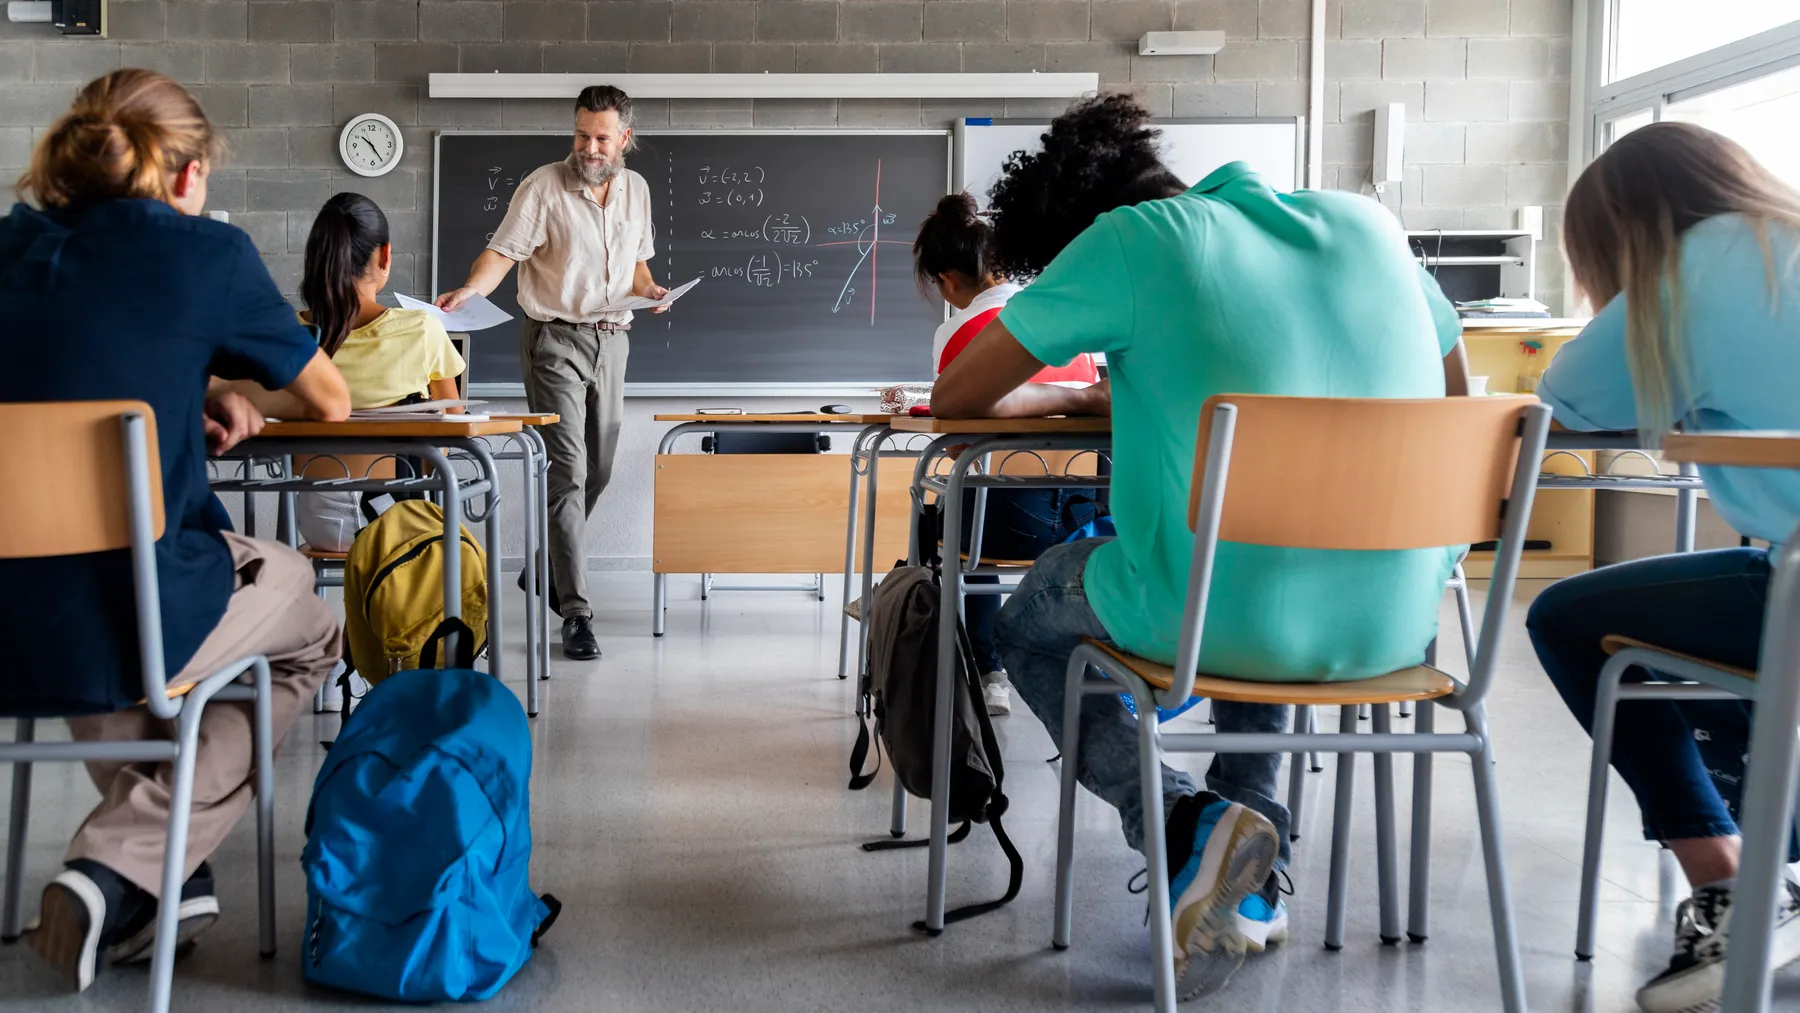
[[[248,702],[256,741],[256,865],[261,952],[275,952],[275,793],[274,734],[268,709],[268,659],[238,659],[200,682],[167,686],[162,664],[162,594],[157,585],[157,538],[164,531],[162,468],[157,419],[142,401],[52,401],[0,405],[0,426],[14,446],[0,459],[0,558],[74,556],[130,549],[137,597],[144,705],[175,725],[175,740],[34,741],[36,720],[16,718],[18,738],[0,743],[0,763],[13,765],[13,811],[7,833],[5,910],[0,936],[20,936],[25,873],[25,822],[31,808],[31,765],[110,759],[173,763],[169,837],[162,862],[162,896],[182,892],[187,819],[194,793],[194,750],[200,716],[211,700]],[[239,682],[248,677],[248,684]],[[5,700],[0,698],[0,714]],[[164,903],[149,964],[149,1009],[167,1013],[175,977],[175,934],[180,905]]]

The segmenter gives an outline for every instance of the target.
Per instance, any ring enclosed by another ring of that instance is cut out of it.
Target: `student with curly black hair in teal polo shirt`
[[[1206,398],[1436,398],[1449,372],[1465,392],[1462,358],[1445,358],[1458,347],[1454,308],[1379,203],[1282,194],[1240,162],[1183,193],[1166,185],[1147,121],[1129,97],[1089,99],[1057,119],[1042,153],[1012,160],[992,194],[995,254],[1003,272],[1037,281],[932,390],[945,417],[1112,412],[1118,538],[1046,552],[997,623],[1006,671],[1051,738],[1084,637],[1174,660]],[[1026,383],[1084,351],[1107,353],[1111,405],[1103,389]],[[1460,552],[1220,545],[1201,668],[1323,682],[1418,664]],[[1120,810],[1141,849],[1132,718],[1118,696],[1087,696],[1082,711],[1082,784]],[[1213,718],[1222,732],[1289,722],[1287,707],[1226,702]],[[1289,824],[1274,801],[1278,766],[1278,756],[1219,756],[1206,792],[1163,770],[1172,918],[1195,925],[1177,939],[1183,999],[1220,988],[1247,948],[1285,937],[1273,876]],[[1202,862],[1215,837],[1226,860]],[[1184,919],[1193,905],[1215,918]],[[1219,921],[1238,928],[1213,936],[1206,925]]]

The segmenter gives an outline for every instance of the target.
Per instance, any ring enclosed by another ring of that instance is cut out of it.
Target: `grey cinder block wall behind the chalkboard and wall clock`
[[[106,40],[0,22],[0,180],[18,175],[81,81],[151,67],[193,86],[225,130],[230,158],[212,176],[211,203],[256,239],[284,291],[299,286],[313,212],[331,193],[355,189],[394,225],[392,286],[423,295],[432,131],[569,124],[562,101],[428,99],[434,70],[1093,70],[1159,115],[1300,115],[1309,9],[1309,0],[110,0]],[[1539,293],[1555,306],[1570,22],[1570,0],[1332,4],[1325,184],[1368,193],[1373,108],[1406,103],[1406,182],[1384,203],[1411,229],[1503,229],[1514,207],[1546,205]],[[1136,56],[1139,34],[1170,27],[1224,29],[1229,41],[1217,58]],[[646,101],[639,126],[909,128],[1058,108]],[[403,164],[380,180],[338,162],[338,128],[362,112],[407,131]],[[464,270],[445,264],[441,281]],[[592,547],[607,565],[635,569],[650,552],[650,410],[634,403],[616,486],[599,507],[616,524],[594,525]]]

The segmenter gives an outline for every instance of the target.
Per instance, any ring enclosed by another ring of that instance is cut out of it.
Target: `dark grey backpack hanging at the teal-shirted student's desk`
[[[895,567],[875,587],[864,608],[869,623],[869,669],[862,682],[864,714],[857,729],[857,745],[850,754],[850,790],[868,788],[880,772],[880,752],[886,749],[895,777],[907,793],[931,797],[931,740],[932,716],[938,702],[938,678],[956,680],[954,713],[950,716],[950,822],[959,824],[950,833],[950,844],[968,837],[974,824],[994,829],[1001,851],[1010,864],[1006,896],[970,903],[945,912],[945,925],[986,914],[1019,896],[1024,880],[1024,858],[1006,837],[1001,817],[1006,813],[1006,795],[1001,784],[1006,766],[1001,761],[994,723],[981,702],[976,651],[961,619],[956,623],[956,671],[938,671],[938,605],[941,588],[929,567]],[[871,734],[873,722],[873,734]],[[862,766],[875,750],[875,770]],[[896,847],[923,847],[927,840],[873,840],[864,851],[891,851]],[[925,930],[923,923],[914,928]]]

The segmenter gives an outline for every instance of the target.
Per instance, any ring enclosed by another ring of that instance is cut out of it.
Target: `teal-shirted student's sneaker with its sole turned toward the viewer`
[[[1282,840],[1262,813],[1211,792],[1175,802],[1166,835],[1175,995],[1186,1000],[1219,991],[1244,963],[1238,909],[1267,882]]]

